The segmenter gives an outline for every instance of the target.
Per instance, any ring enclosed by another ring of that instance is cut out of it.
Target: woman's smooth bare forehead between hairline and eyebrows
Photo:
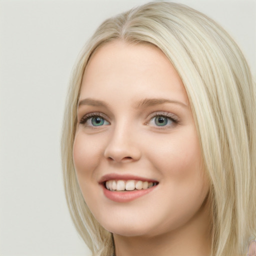
[[[131,98],[145,94],[178,95],[179,100],[188,104],[178,73],[165,54],[152,44],[114,41],[98,48],[84,71],[80,98],[88,94],[102,96],[102,91],[103,96],[112,93]]]

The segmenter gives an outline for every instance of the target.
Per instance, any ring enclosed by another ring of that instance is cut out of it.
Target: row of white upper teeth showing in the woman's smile
[[[158,182],[142,180],[107,180],[104,187],[109,191],[133,191],[156,186]]]

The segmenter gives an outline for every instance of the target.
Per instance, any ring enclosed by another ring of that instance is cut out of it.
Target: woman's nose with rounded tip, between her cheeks
[[[137,136],[126,127],[116,127],[104,150],[104,157],[112,162],[132,162],[141,157]]]

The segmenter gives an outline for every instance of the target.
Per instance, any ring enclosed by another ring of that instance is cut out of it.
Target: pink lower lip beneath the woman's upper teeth
[[[156,185],[157,186],[157,185]],[[129,202],[151,192],[156,186],[132,191],[110,191],[103,186],[104,195],[115,202]]]

